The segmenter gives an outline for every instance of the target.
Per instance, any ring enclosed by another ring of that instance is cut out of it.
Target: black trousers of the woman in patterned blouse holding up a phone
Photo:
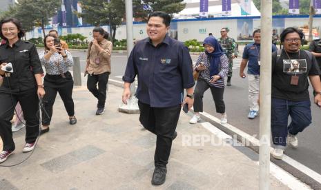
[[[42,112],[42,125],[50,125],[52,107],[55,103],[57,92],[64,102],[68,116],[75,115],[75,105],[72,100],[74,81],[72,80],[70,72],[66,72],[65,76],[66,78],[62,78],[61,75],[46,74],[44,78],[43,85],[45,86],[46,94],[43,97],[43,105],[46,112]]]

